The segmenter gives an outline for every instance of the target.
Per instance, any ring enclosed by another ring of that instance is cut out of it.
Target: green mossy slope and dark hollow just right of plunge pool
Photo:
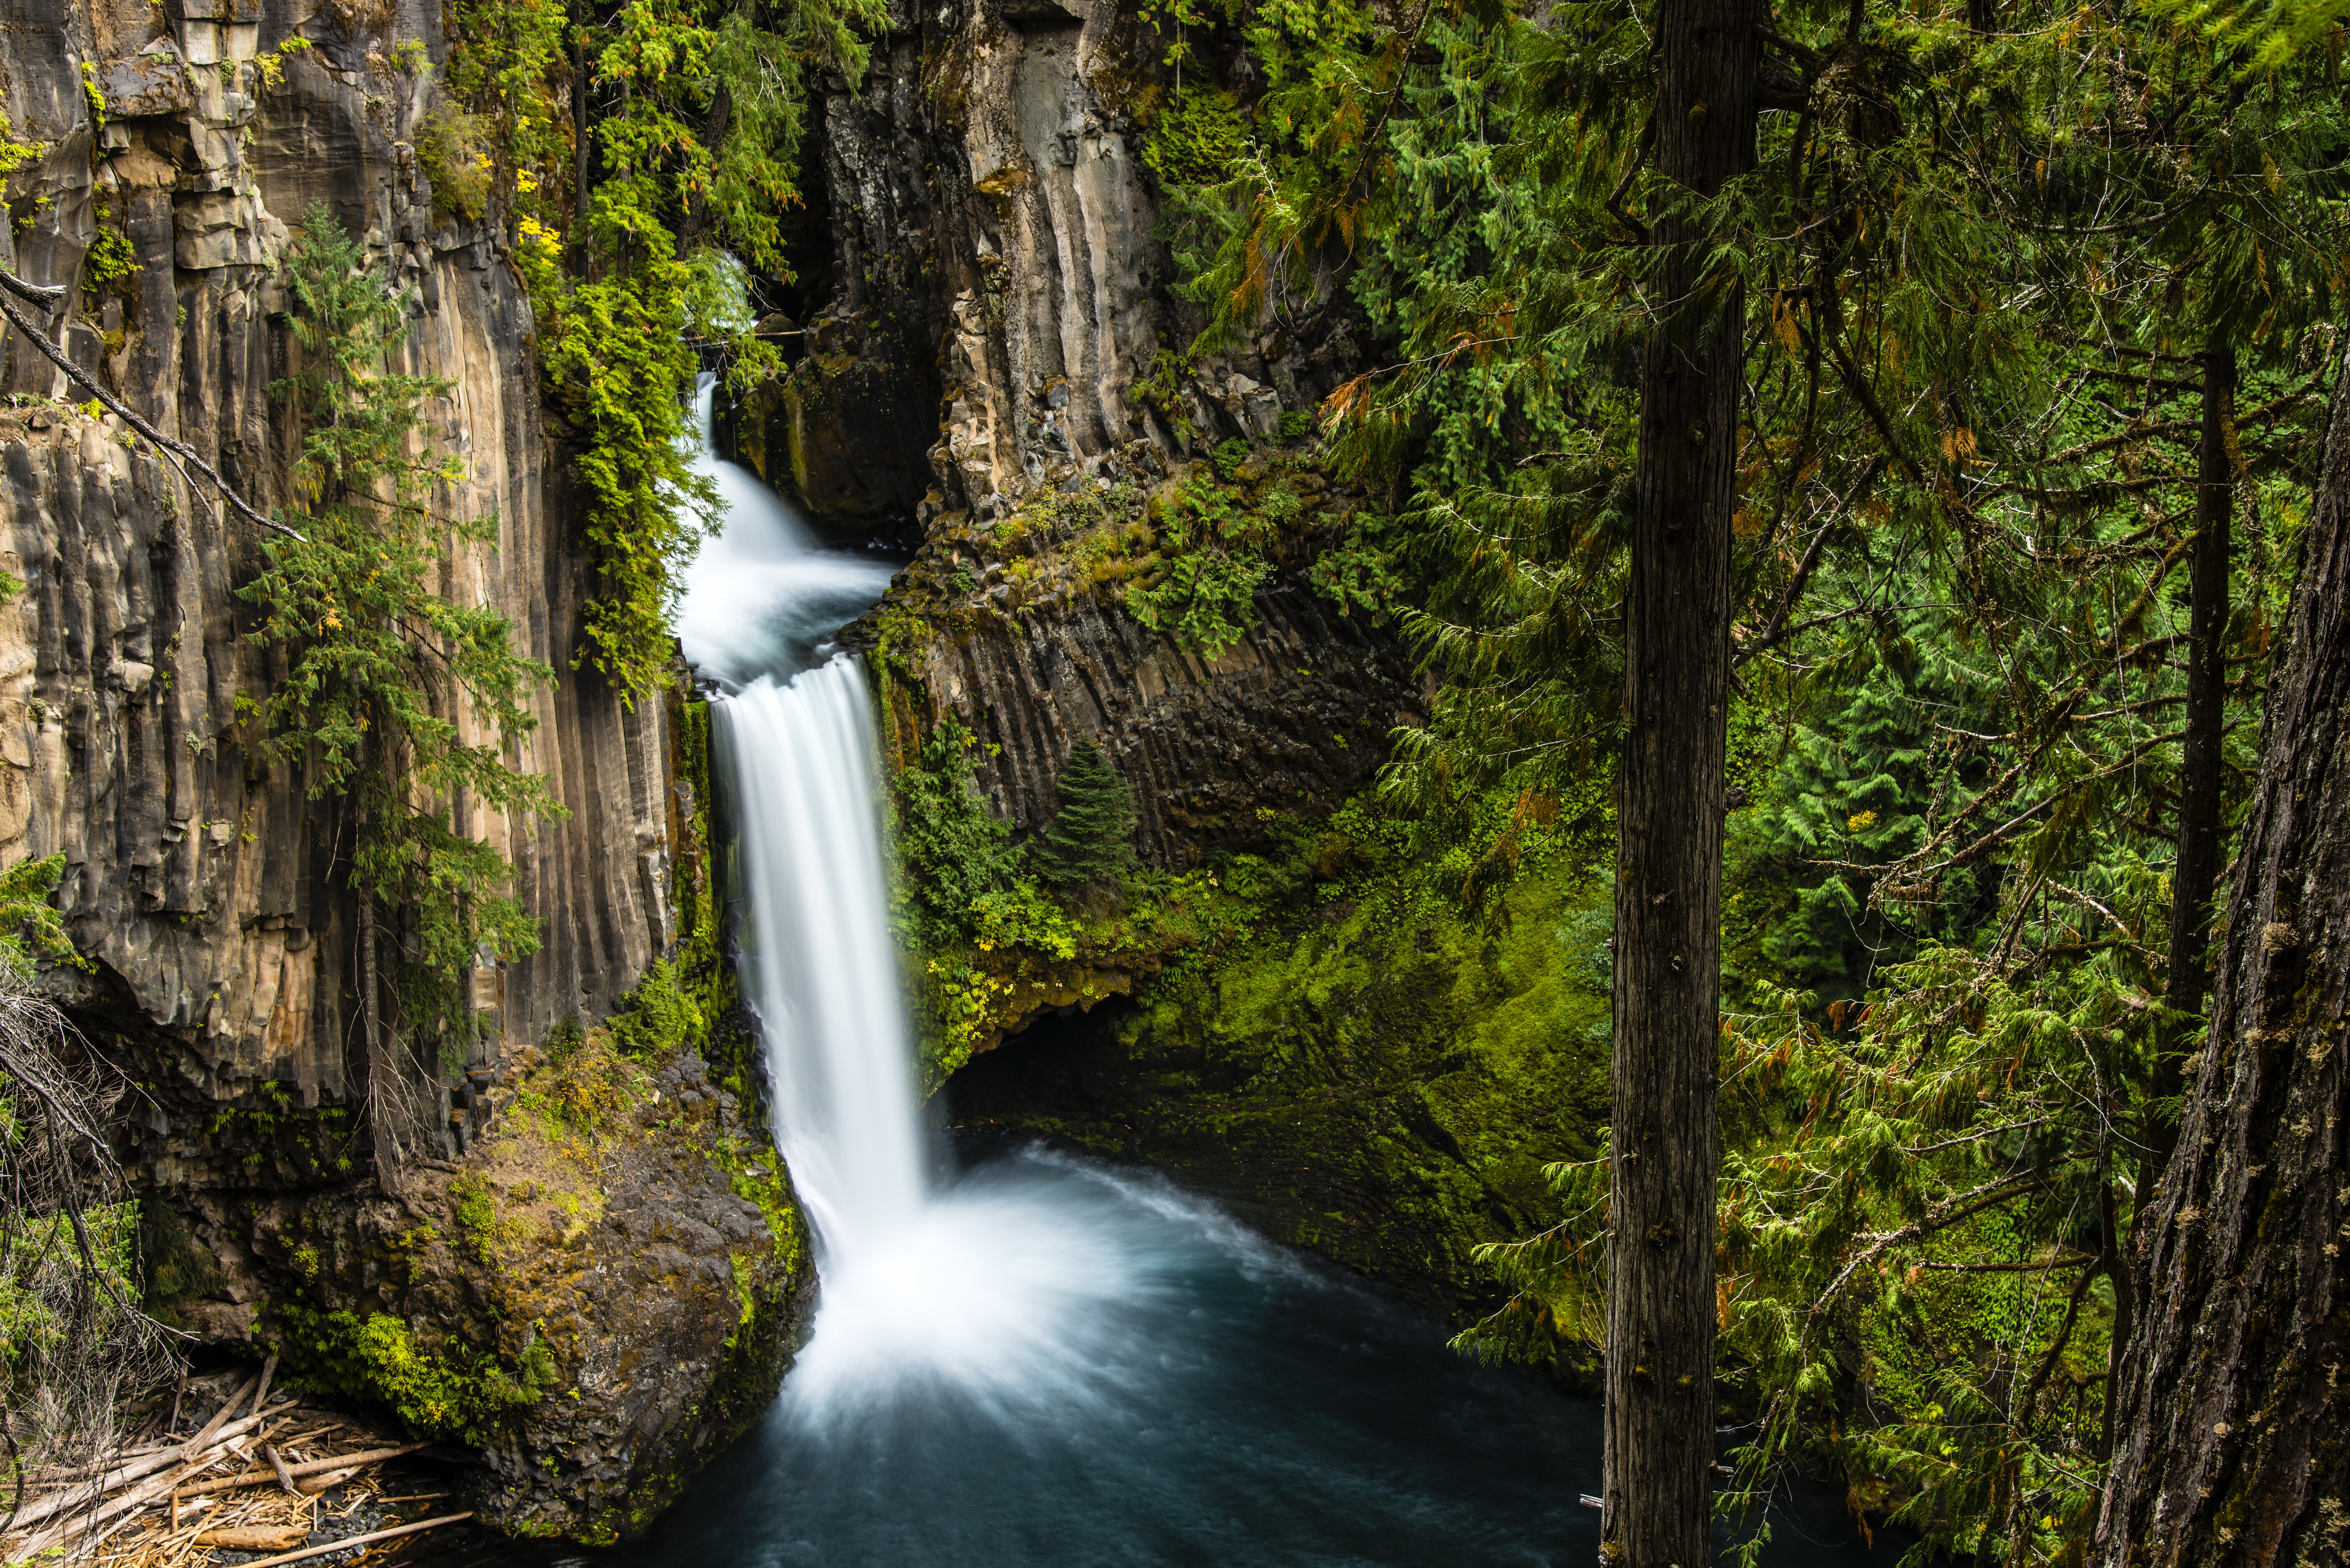
[[[1222,924],[1135,1006],[975,1058],[954,1114],[1142,1157],[1429,1307],[1488,1309],[1471,1248],[1556,1222],[1542,1166],[1607,1117],[1593,842],[1504,804],[1443,853],[1365,806],[1269,832],[1201,875]],[[1511,832],[1516,877],[1466,903]]]

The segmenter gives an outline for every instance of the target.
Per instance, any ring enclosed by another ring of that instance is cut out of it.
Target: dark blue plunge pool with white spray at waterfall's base
[[[1598,1561],[1598,1408],[1163,1178],[996,1145],[825,1274],[766,1418],[592,1568]],[[1727,1535],[1720,1537],[1727,1544]],[[1892,1563],[1826,1493],[1774,1568]]]

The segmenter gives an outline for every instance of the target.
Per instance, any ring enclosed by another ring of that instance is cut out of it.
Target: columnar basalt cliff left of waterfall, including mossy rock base
[[[515,863],[543,931],[536,954],[484,954],[470,1039],[414,1041],[407,1091],[446,1119],[425,1152],[451,1161],[409,1166],[390,1197],[369,1175],[345,827],[256,745],[251,703],[282,675],[237,597],[256,529],[21,336],[0,411],[0,569],[21,581],[0,604],[0,860],[63,856],[56,898],[94,969],[56,983],[139,1084],[122,1152],[157,1234],[197,1260],[164,1309],[479,1446],[489,1519],[611,1537],[757,1415],[811,1272],[780,1166],[745,1175],[764,1145],[691,1056],[597,1079],[595,1114],[627,1135],[566,1213],[536,1213],[557,1175],[501,1175],[515,1150],[545,1154],[538,1121],[585,1114],[522,1072],[529,1053],[677,945],[705,867],[682,710],[571,668],[590,571],[531,306],[491,228],[435,212],[411,150],[439,26],[416,0],[0,2],[0,110],[38,143],[7,186],[0,266],[66,284],[56,343],[263,510],[294,501],[294,430],[268,395],[289,369],[289,230],[324,202],[407,294],[402,369],[449,383],[423,414],[465,473],[439,505],[496,517],[494,545],[444,545],[439,592],[496,607],[555,670],[510,762],[566,809],[451,804]],[[498,1128],[515,1093],[543,1110]],[[705,1114],[670,1114],[691,1105]],[[486,1239],[465,1244],[465,1218]],[[402,1394],[444,1385],[491,1394]]]

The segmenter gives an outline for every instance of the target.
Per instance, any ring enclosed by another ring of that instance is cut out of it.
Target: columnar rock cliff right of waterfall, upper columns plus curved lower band
[[[999,581],[1041,552],[1010,520],[1264,444],[1356,357],[1337,301],[1184,353],[1201,315],[1168,289],[1142,162],[1163,52],[1121,0],[902,0],[865,89],[825,99],[830,294],[743,442],[834,534],[916,515],[893,604],[926,632],[898,644],[900,743],[959,717],[999,748],[980,766],[996,813],[1034,827],[1069,745],[1097,736],[1140,795],[1137,846],[1184,867],[1260,813],[1337,804],[1419,703],[1396,642],[1300,574],[1217,658],[1137,625],[1114,585]]]

